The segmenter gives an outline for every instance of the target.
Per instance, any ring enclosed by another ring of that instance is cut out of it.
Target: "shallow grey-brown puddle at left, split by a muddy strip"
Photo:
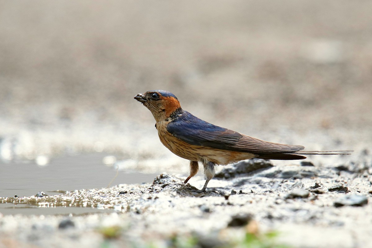
[[[118,184],[151,183],[158,175],[158,173],[126,173],[126,171],[119,171],[116,176],[116,170],[102,162],[106,155],[94,153],[59,157],[52,159],[46,166],[38,166],[35,162],[11,162],[8,164],[0,162],[0,197],[34,196],[39,191],[43,191],[47,195],[56,195],[79,189],[100,189],[108,187],[109,184],[114,186]],[[113,210],[0,203],[0,213],[3,214],[55,215],[102,211]]]

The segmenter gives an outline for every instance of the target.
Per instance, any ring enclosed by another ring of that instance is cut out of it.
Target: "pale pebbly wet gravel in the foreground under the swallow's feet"
[[[257,167],[263,163],[253,160],[251,164]],[[372,245],[372,219],[368,214],[372,211],[368,203],[372,199],[371,175],[299,165],[266,167],[249,173],[236,170],[239,166],[230,166],[231,173],[233,168],[235,174],[230,179],[212,180],[214,187],[204,193],[181,183],[183,178],[163,173],[152,184],[0,198],[0,203],[115,211],[90,215],[0,215],[0,240],[13,247],[102,247],[106,243],[113,247],[148,247],[153,243],[163,247],[179,236],[193,237],[200,247],[201,242],[214,247],[208,238],[215,235],[215,247],[221,247],[243,242],[254,223],[259,230],[256,235],[278,231],[275,242],[282,245]],[[273,174],[278,176],[272,177]],[[194,183],[201,185],[203,180],[191,180]],[[341,186],[348,191],[327,190]]]

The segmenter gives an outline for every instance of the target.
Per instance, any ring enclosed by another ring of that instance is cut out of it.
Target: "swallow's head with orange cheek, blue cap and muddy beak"
[[[134,99],[143,103],[153,113],[156,122],[167,119],[181,108],[177,97],[165,90],[150,90],[145,94],[137,94]]]

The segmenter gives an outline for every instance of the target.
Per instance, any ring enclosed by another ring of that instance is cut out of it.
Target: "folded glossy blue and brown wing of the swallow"
[[[185,111],[167,125],[174,137],[191,145],[208,146],[230,151],[263,153],[295,152],[304,149],[299,145],[284,145],[262,141],[230,129],[205,122]]]

